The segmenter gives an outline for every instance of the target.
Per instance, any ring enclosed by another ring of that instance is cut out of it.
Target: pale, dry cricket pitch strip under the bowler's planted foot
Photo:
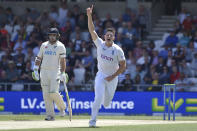
[[[56,121],[0,121],[0,130],[5,129],[33,129],[33,128],[62,128],[62,127],[88,127],[88,119],[79,120],[56,120]],[[123,125],[147,125],[147,124],[182,124],[197,123],[197,121],[162,121],[162,120],[114,120],[99,119],[98,127],[103,126],[123,126]]]

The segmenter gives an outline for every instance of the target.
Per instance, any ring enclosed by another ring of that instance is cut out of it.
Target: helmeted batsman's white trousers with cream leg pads
[[[45,102],[46,115],[55,116],[54,102],[58,107],[58,110],[65,110],[66,105],[62,96],[59,94],[60,84],[60,71],[59,70],[46,70],[41,69],[40,79],[42,94]]]

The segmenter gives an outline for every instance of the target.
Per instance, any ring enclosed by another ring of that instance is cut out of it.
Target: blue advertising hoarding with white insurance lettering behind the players
[[[69,92],[73,114],[90,114],[93,92]],[[64,97],[65,99],[65,97]],[[168,102],[168,100],[166,100]],[[172,103],[171,103],[171,107]],[[176,113],[197,115],[197,93],[176,93]],[[102,113],[125,115],[162,113],[163,92],[116,92],[110,106]],[[41,92],[0,92],[0,112],[34,113],[45,112]]]

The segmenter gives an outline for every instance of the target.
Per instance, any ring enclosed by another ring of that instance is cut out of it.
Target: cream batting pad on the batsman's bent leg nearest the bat
[[[64,103],[64,100],[59,93],[50,93],[50,97],[57,105],[58,110],[65,110],[66,109],[66,105]]]

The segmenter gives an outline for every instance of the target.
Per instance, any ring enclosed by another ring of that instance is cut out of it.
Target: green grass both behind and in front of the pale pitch
[[[0,115],[1,121],[42,121],[43,115]],[[64,120],[68,117],[56,117],[56,120]],[[74,120],[89,119],[89,116],[73,116]],[[99,119],[114,120],[162,120],[162,116],[99,116]],[[197,116],[176,117],[176,121],[197,121]],[[172,122],[173,123],[173,122]],[[0,127],[0,131],[1,127]],[[65,128],[43,128],[43,129],[12,129],[6,131],[197,131],[197,123],[187,124],[149,124],[149,125],[129,125],[129,126],[99,126],[97,128],[88,127],[65,127]]]

